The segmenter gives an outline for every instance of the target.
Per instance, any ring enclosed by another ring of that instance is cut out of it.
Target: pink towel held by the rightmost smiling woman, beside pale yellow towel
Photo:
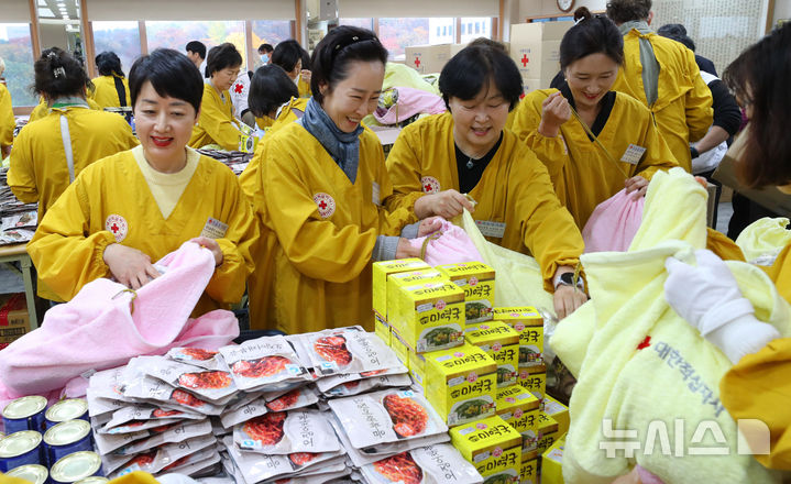
[[[626,189],[598,204],[585,228],[582,238],[585,253],[626,252],[642,221],[646,197],[635,198]]]

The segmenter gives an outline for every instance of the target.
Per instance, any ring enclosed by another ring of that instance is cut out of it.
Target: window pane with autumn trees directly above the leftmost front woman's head
[[[242,55],[242,66],[245,65],[248,57],[243,21],[146,21],[145,35],[149,38],[149,52],[157,47],[185,52],[187,42],[200,41],[206,44],[208,55],[209,48],[230,42]]]

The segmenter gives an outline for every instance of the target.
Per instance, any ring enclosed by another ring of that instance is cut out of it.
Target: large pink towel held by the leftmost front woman
[[[157,262],[165,273],[134,293],[101,278],[50,309],[41,328],[0,351],[0,405],[24,395],[51,396],[90,370],[164,354],[175,346],[216,349],[239,336],[233,312],[189,319],[215,273],[215,258],[193,242]],[[70,396],[84,389],[68,386]]]

